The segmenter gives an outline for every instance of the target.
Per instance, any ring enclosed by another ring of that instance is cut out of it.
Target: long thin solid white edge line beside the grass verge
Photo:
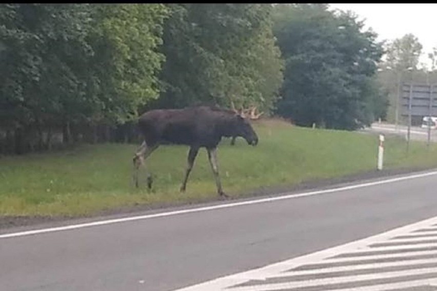
[[[428,177],[428,176],[433,176],[433,175],[437,175],[437,171],[432,171],[432,172],[427,172],[427,173],[422,173],[422,174],[414,174],[414,175],[403,176],[403,177],[398,177],[398,178],[391,178],[391,179],[374,181],[374,182],[367,182],[367,183],[362,183],[362,184],[355,184],[355,185],[344,186],[344,187],[328,189],[328,190],[319,190],[319,191],[312,191],[312,192],[300,193],[300,194],[288,194],[288,195],[283,195],[283,196],[255,199],[255,200],[249,200],[249,201],[243,201],[243,202],[235,202],[235,203],[226,203],[226,204],[220,204],[220,205],[214,205],[214,206],[198,207],[198,208],[194,208],[194,209],[178,210],[178,211],[163,212],[163,213],[149,214],[149,215],[131,216],[131,217],[125,217],[125,218],[108,219],[108,220],[94,221],[94,222],[88,222],[88,223],[80,223],[80,224],[72,224],[72,225],[59,226],[59,227],[43,228],[40,230],[9,233],[9,234],[0,235],[0,239],[22,237],[22,236],[36,235],[36,234],[43,234],[43,233],[52,233],[52,232],[59,232],[59,231],[68,231],[68,230],[74,230],[77,228],[84,228],[84,227],[90,227],[90,226],[106,225],[106,224],[112,224],[112,223],[151,219],[151,218],[158,218],[158,217],[167,217],[167,216],[174,216],[174,215],[181,215],[181,214],[195,213],[195,212],[202,212],[202,211],[210,211],[210,210],[216,210],[216,209],[224,209],[224,208],[243,206],[243,205],[272,202],[272,201],[285,200],[285,199],[294,199],[294,198],[300,198],[300,197],[322,195],[322,194],[327,194],[327,193],[334,193],[334,192],[340,192],[340,191],[365,188],[365,187],[369,187],[369,186],[394,183],[394,182],[399,182],[399,181],[404,181],[404,180],[423,178],[423,177]]]

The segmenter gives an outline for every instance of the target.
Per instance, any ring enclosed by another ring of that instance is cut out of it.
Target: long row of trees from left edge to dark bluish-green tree
[[[267,113],[284,66],[271,11],[261,4],[0,6],[0,134],[24,153],[35,135],[37,148],[49,148],[53,131],[64,143],[80,135],[108,141],[109,127],[119,126],[117,138],[126,140],[120,132],[156,106],[234,102]]]

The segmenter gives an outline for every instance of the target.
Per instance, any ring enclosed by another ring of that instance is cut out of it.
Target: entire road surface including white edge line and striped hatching
[[[98,223],[3,230],[0,290],[436,290],[437,220],[371,237],[437,216],[437,172],[423,173]],[[393,237],[399,241],[390,242]],[[345,274],[346,267],[354,273]]]

